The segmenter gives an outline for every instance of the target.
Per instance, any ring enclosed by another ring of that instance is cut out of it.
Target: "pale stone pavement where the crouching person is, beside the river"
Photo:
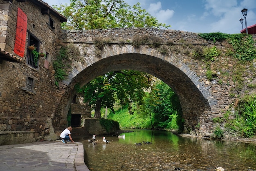
[[[61,140],[0,146],[1,171],[89,171],[83,144]]]

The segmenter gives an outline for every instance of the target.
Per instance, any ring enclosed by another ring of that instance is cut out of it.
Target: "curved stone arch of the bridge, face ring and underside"
[[[83,50],[81,53],[83,54]],[[211,86],[205,87],[195,71],[175,55],[163,55],[147,45],[136,48],[131,44],[112,44],[103,49],[101,57],[94,56],[91,59],[93,60],[84,58],[84,64],[79,63],[73,67],[68,79],[63,81],[68,88],[62,98],[63,105],[58,109],[61,118],[66,118],[71,97],[75,93],[75,84],[83,86],[109,71],[132,69],[159,78],[175,91],[182,105],[185,132],[209,134],[209,126],[205,124],[205,120],[209,120],[209,115],[216,111],[218,100],[211,95]],[[200,129],[195,127],[198,124]]]

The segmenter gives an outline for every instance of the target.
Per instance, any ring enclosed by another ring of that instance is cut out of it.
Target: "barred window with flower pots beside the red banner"
[[[34,45],[34,47],[36,47],[36,49],[34,51],[39,52],[39,40],[32,36],[29,33],[29,40],[28,40],[28,47]],[[27,50],[27,64],[29,64],[31,67],[33,68],[38,68],[38,58],[39,56],[36,55],[36,53],[33,53],[33,51],[31,50]]]

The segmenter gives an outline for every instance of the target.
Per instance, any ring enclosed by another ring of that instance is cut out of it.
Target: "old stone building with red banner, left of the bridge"
[[[67,19],[42,0],[0,0],[0,13],[0,145],[55,140],[62,91],[54,85],[52,57]]]

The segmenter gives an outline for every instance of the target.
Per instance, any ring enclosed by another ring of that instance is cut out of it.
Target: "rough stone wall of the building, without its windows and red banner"
[[[37,2],[36,0],[35,2]],[[39,0],[39,2],[41,2]],[[45,58],[39,58],[38,68],[32,68],[26,63],[27,43],[24,57],[18,57],[21,62],[8,62],[0,58],[0,128],[2,135],[9,135],[14,132],[21,140],[11,138],[10,143],[27,142],[23,136],[31,140],[56,139],[52,120],[55,118],[55,111],[61,99],[63,90],[54,84],[54,70],[52,67],[52,56],[56,55],[58,47],[58,33],[60,32],[60,19],[56,14],[42,14],[41,10],[46,6],[38,6],[31,1],[13,2],[0,0],[0,11],[4,11],[1,16],[1,25],[6,31],[0,31],[3,37],[0,38],[2,51],[13,54],[14,40],[16,34],[17,9],[22,9],[27,15],[27,30],[40,40],[40,51],[47,52],[49,67],[45,67]],[[4,9],[4,10],[2,10]],[[54,20],[55,29],[49,27],[49,16]],[[28,32],[27,32],[28,38]],[[34,78],[34,90],[26,89],[27,77]],[[59,95],[56,95],[59,94]],[[65,122],[65,121],[64,121]],[[50,124],[49,124],[50,123]],[[67,122],[63,123],[66,124]],[[19,131],[18,134],[16,131]],[[7,132],[8,134],[4,134]],[[52,137],[52,138],[49,138]]]

